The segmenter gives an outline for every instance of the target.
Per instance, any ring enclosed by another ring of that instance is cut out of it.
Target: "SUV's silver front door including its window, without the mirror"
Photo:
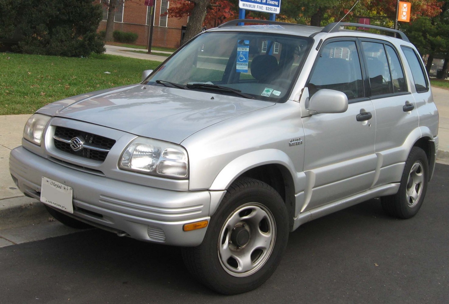
[[[374,181],[376,113],[366,97],[357,40],[331,40],[321,48],[308,81],[310,96],[322,88],[342,91],[344,113],[303,118],[305,203],[301,211],[369,189]]]

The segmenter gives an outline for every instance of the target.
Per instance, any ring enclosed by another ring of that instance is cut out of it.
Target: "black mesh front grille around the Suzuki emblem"
[[[82,139],[84,143],[77,151],[70,147],[70,141],[75,137]],[[53,142],[58,150],[101,162],[115,144],[113,139],[65,127],[56,127]]]

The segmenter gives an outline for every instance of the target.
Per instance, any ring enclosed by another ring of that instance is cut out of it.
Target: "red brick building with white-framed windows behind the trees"
[[[136,44],[148,45],[148,29],[151,17],[151,7],[144,0],[118,0],[114,18],[114,30],[133,32],[139,35]],[[154,29],[152,45],[168,48],[178,48],[181,40],[181,26],[187,25],[187,17],[178,19],[161,16],[167,12],[169,0],[154,0]],[[106,29],[108,9],[103,6],[103,20],[98,30]]]

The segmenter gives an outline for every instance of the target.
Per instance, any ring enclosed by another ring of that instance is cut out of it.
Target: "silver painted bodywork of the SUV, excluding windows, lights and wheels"
[[[409,151],[418,140],[425,139],[436,152],[438,111],[430,89],[416,93],[405,59],[408,94],[349,103],[343,113],[313,114],[306,107],[304,87],[320,40],[341,36],[384,40],[401,57],[401,45],[414,48],[412,44],[364,32],[317,33],[320,28],[310,26],[264,31],[316,34],[286,102],[142,84],[57,101],[38,110],[53,117],[45,129],[44,145],[24,139],[11,152],[10,171],[19,188],[39,198],[41,176],[47,176],[74,189],[74,205],[81,208],[74,215],[80,220],[140,240],[195,246],[207,228],[183,232],[182,225],[210,219],[229,185],[252,168],[274,164],[289,175],[294,230],[330,212],[396,193]],[[402,110],[406,101],[414,104],[413,111]],[[370,112],[372,118],[357,121],[361,112]],[[56,126],[99,134],[116,143],[102,163],[82,159],[54,148],[51,138]],[[123,149],[138,136],[182,145],[189,156],[189,179],[120,170]],[[292,139],[302,144],[289,145]],[[431,172],[434,163],[435,157]],[[149,227],[161,229],[164,240],[152,238],[156,232],[150,233]]]

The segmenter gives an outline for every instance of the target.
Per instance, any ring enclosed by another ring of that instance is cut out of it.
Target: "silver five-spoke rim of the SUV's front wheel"
[[[231,240],[237,230],[244,236],[249,234],[243,246]],[[234,210],[220,229],[217,244],[220,264],[234,277],[249,276],[269,259],[275,241],[276,223],[271,211],[260,203],[247,203]]]

